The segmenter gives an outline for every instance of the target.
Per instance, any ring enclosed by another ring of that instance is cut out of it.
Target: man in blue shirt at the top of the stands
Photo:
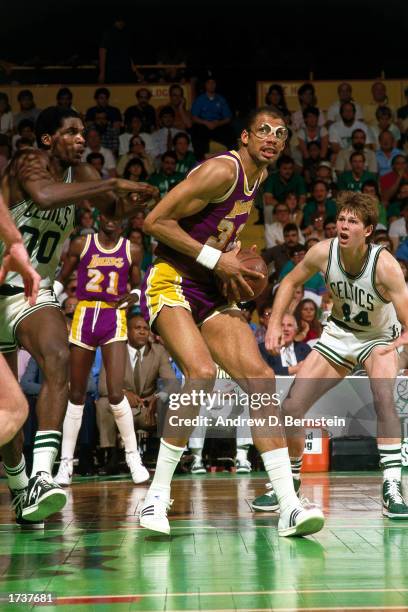
[[[209,151],[210,140],[232,148],[234,132],[231,127],[232,113],[223,96],[216,93],[217,82],[208,78],[205,92],[198,96],[191,108],[193,127],[191,136],[195,154],[199,160]]]

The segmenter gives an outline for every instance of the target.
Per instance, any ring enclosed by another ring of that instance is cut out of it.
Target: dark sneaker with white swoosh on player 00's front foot
[[[29,521],[40,521],[59,512],[67,502],[67,494],[53,481],[48,472],[37,472],[28,481],[27,497],[22,517]]]

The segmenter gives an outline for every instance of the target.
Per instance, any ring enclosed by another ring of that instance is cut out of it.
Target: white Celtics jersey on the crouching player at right
[[[367,259],[361,271],[347,273],[340,260],[338,238],[330,245],[326,284],[333,297],[331,319],[340,327],[353,331],[399,335],[400,324],[393,304],[385,300],[375,286],[375,271],[383,247],[369,244]]]

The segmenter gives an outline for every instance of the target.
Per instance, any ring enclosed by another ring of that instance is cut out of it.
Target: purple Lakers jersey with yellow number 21
[[[78,266],[77,298],[116,302],[126,293],[131,264],[129,240],[120,238],[113,249],[105,249],[97,234],[89,234]]]

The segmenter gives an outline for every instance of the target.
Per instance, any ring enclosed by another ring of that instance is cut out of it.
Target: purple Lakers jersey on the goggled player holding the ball
[[[261,177],[250,190],[241,159],[236,151],[227,151],[216,157],[232,159],[236,163],[235,182],[222,197],[207,204],[197,214],[180,219],[179,224],[185,232],[201,244],[207,244],[226,252],[236,242],[240,232],[245,227]],[[197,168],[199,166],[191,172],[194,172]],[[158,258],[169,262],[188,278],[201,282],[213,281],[214,273],[211,270],[204,268],[192,257],[179,253],[163,243],[158,244],[156,255]]]

